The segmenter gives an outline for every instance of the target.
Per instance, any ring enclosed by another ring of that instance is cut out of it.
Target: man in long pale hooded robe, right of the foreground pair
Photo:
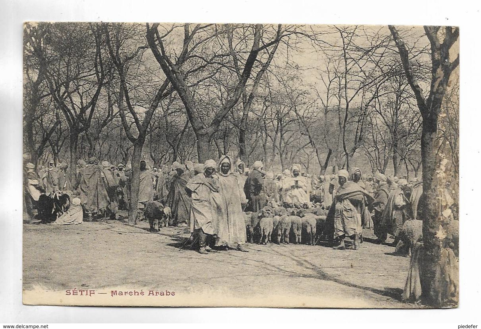
[[[218,219],[214,233],[217,235],[216,246],[236,248],[247,252],[243,244],[247,241],[242,204],[246,203],[241,182],[230,172],[232,161],[229,156],[219,160],[218,173],[215,175],[219,193],[213,194]]]

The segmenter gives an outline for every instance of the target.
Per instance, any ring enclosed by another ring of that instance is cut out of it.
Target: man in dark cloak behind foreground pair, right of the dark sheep
[[[172,210],[172,225],[187,227],[189,225],[190,197],[185,191],[189,181],[189,173],[185,172],[185,166],[177,161],[172,164],[174,174],[171,177],[169,194],[166,197],[166,204]]]

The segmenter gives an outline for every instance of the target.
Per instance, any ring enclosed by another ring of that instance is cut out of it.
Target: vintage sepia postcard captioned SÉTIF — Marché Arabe
[[[459,28],[24,24],[25,305],[459,303]]]

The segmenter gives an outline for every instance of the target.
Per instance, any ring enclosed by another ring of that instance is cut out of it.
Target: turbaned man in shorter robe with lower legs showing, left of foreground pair
[[[190,232],[199,241],[199,253],[216,252],[211,246],[215,244],[214,228],[217,220],[214,216],[213,193],[218,193],[218,187],[212,175],[216,163],[210,159],[203,165],[203,173],[192,177],[186,185],[186,192],[192,199],[190,205]]]

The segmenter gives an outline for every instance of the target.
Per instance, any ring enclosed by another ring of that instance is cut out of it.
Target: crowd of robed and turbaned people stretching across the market
[[[199,241],[199,252],[219,248],[247,251],[245,213],[260,213],[266,207],[286,209],[322,208],[327,213],[327,236],[335,248],[357,249],[362,229],[373,228],[378,243],[388,234],[399,241],[399,232],[409,219],[417,219],[422,182],[414,178],[387,177],[378,172],[363,177],[360,169],[351,173],[333,169],[334,174],[313,177],[293,164],[283,172],[264,171],[262,161],[251,168],[241,160],[223,156],[205,163],[174,162],[162,168],[139,163],[138,217],[156,200],[169,207],[168,225],[189,227]],[[66,179],[67,165],[49,160],[47,166],[26,164],[25,207],[30,216],[40,195],[63,192],[75,197],[86,220],[116,219],[119,210],[128,210],[131,201],[131,165],[116,166],[95,157],[77,162],[76,177]],[[287,215],[286,215],[287,216]],[[71,221],[67,220],[67,223]],[[78,220],[76,222],[79,222]],[[81,222],[81,221],[80,221]]]

